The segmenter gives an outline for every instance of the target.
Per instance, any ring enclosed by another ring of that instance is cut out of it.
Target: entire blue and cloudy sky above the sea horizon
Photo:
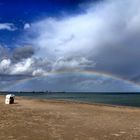
[[[24,90],[21,81],[33,88],[40,77],[44,87],[49,80],[60,90],[67,86],[54,79],[67,85],[78,79],[71,87],[76,91],[118,91],[120,83],[125,91],[130,83],[139,87],[139,6],[139,0],[0,0],[0,90],[14,90],[17,83]],[[94,74],[92,82],[77,74],[87,71]],[[95,83],[103,75],[101,88]]]

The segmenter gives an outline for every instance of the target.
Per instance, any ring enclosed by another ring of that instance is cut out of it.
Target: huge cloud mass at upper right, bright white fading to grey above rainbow
[[[140,69],[139,5],[139,0],[104,0],[86,9],[82,5],[84,12],[74,16],[32,23],[29,42],[37,48],[35,57],[47,58],[55,70],[80,69],[77,58],[84,57],[96,63],[84,69],[131,79]]]

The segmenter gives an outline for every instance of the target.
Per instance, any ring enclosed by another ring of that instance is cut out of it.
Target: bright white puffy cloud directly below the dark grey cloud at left
[[[7,58],[0,61],[0,74],[41,76],[46,75],[50,69],[52,69],[52,64],[50,65],[46,59],[42,60],[34,57],[16,62]]]

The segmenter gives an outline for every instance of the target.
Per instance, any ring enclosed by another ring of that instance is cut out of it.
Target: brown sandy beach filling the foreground
[[[140,140],[140,109],[0,96],[0,140]]]

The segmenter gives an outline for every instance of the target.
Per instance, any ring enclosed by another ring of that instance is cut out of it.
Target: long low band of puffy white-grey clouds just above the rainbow
[[[43,76],[48,73],[58,71],[78,71],[84,70],[85,67],[94,67],[95,64],[89,60],[82,58],[61,58],[57,61],[49,61],[43,58],[23,58],[17,59],[4,58],[0,61],[0,73],[10,75],[31,75],[31,76]]]

